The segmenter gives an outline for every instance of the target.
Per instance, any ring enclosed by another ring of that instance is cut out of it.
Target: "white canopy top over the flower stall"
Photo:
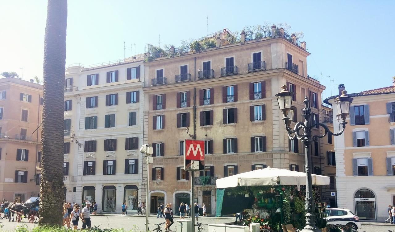
[[[312,174],[313,185],[329,185],[329,176]],[[306,185],[306,173],[280,168],[262,168],[216,180],[217,189],[260,185]]]

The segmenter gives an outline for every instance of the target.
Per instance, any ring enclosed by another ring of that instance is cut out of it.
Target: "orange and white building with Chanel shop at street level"
[[[339,92],[343,89],[339,85]],[[395,81],[347,95],[354,98],[348,124],[334,140],[338,206],[362,220],[381,222],[388,218],[387,206],[395,204]],[[325,102],[333,104],[334,97]],[[334,127],[339,131],[338,122]]]

